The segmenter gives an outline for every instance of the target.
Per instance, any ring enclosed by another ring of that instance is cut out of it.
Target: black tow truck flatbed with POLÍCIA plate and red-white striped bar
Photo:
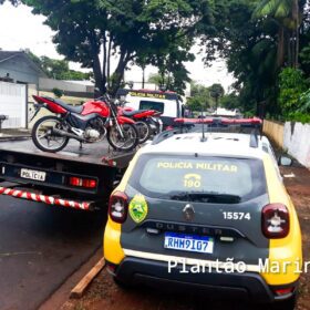
[[[83,148],[72,141],[59,153],[41,152],[31,140],[0,142],[0,195],[83,210],[103,208],[134,154],[114,152],[105,141]]]

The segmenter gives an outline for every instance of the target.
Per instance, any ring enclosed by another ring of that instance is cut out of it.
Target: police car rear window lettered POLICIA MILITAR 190
[[[266,194],[259,159],[195,156],[142,155],[130,185],[154,198],[178,194],[214,194],[245,202]]]

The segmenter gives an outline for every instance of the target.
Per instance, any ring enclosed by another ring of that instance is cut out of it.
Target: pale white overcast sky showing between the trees
[[[30,49],[38,56],[46,55],[53,59],[63,59],[62,55],[58,54],[55,45],[52,43],[52,30],[43,22],[44,17],[33,16],[31,8],[25,6],[14,8],[9,2],[0,6],[0,49],[6,51]],[[196,60],[186,63],[190,79],[206,86],[221,83],[228,91],[234,78],[227,72],[225,62],[217,60],[210,68],[205,68],[198,50],[198,46],[193,48]],[[80,70],[78,63],[70,63],[70,66]],[[156,72],[156,68],[148,66],[146,76]],[[142,71],[137,66],[132,66],[125,76],[127,81],[138,82],[142,79]]]

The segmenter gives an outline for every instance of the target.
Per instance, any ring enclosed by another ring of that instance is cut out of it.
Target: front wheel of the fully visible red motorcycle
[[[132,151],[138,144],[138,132],[133,124],[120,125],[123,137],[116,125],[110,127],[106,138],[110,145],[117,151]]]

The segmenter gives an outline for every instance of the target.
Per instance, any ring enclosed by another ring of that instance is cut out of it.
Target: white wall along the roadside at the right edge
[[[310,168],[310,124],[286,122],[283,148],[300,164]]]

